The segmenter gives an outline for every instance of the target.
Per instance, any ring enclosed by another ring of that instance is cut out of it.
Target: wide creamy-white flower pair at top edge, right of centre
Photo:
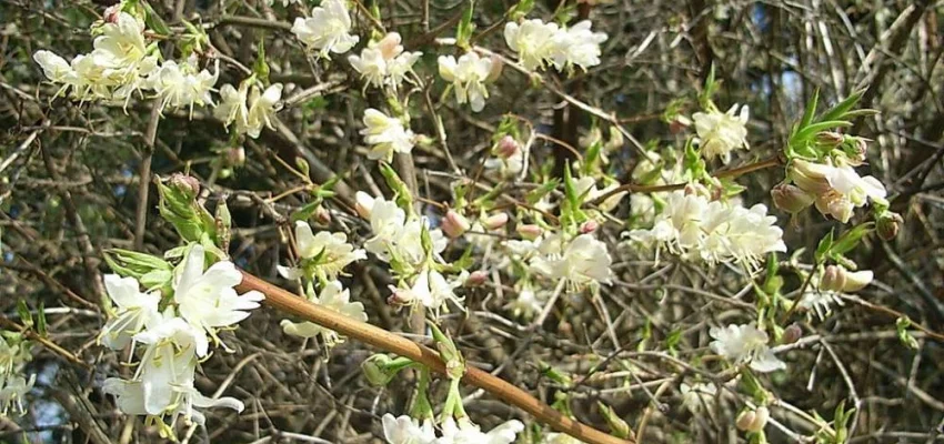
[[[600,64],[600,44],[606,41],[603,32],[590,30],[590,20],[569,28],[545,23],[541,19],[505,24],[505,42],[518,53],[524,69],[535,71],[552,64],[558,71],[574,65],[586,70]]]

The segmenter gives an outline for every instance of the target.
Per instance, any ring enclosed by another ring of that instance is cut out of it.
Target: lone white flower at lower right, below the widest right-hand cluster
[[[714,339],[711,350],[734,364],[749,364],[761,373],[786,369],[767,346],[767,333],[753,324],[714,326],[709,334]]]

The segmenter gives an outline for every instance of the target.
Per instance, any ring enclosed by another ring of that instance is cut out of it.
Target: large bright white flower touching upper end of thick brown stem
[[[238,295],[242,273],[230,261],[220,261],[203,271],[204,251],[193,245],[175,270],[173,299],[180,315],[191,325],[207,330],[233,325],[259,307],[264,296],[258,291]]]

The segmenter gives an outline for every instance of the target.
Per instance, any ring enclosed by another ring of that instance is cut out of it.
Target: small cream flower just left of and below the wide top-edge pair
[[[439,73],[443,80],[452,82],[455,101],[469,103],[474,112],[485,108],[489,90],[484,82],[491,72],[492,59],[480,58],[475,52],[466,52],[458,62],[452,56],[439,58]]]

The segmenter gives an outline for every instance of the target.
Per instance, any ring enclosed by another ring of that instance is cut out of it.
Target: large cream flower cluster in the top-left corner
[[[58,94],[71,90],[76,100],[123,101],[125,104],[139,91],[153,91],[160,98],[160,109],[212,105],[210,90],[217,83],[215,72],[200,70],[192,56],[183,62],[173,60],[159,64],[157,47],[144,40],[143,20],[120,11],[97,29],[100,33],[92,52],[76,56],[71,62],[47,50],[37,51],[33,59],[46,78],[61,84]]]

